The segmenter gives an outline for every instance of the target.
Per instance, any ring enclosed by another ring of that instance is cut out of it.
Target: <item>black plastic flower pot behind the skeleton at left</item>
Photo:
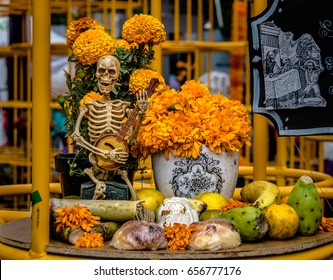
[[[59,180],[63,197],[80,196],[81,184],[91,181],[88,175],[70,175],[69,163],[72,163],[73,160],[76,163],[76,169],[80,168],[81,170],[84,170],[85,168],[92,166],[88,158],[75,158],[74,153],[63,153],[54,156],[55,170],[59,173]]]

